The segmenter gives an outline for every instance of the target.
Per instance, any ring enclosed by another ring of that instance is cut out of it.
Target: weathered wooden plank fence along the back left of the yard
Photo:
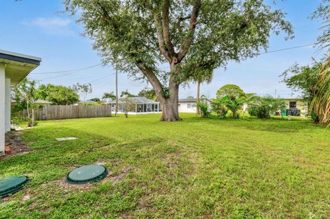
[[[23,117],[28,116],[28,112],[21,112]],[[53,119],[76,119],[90,117],[109,117],[111,116],[111,106],[60,106],[47,105],[35,111],[36,120],[53,120]]]

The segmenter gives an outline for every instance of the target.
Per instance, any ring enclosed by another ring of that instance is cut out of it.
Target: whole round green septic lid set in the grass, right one
[[[107,169],[102,165],[84,165],[67,174],[67,183],[84,184],[99,181],[107,176]]]

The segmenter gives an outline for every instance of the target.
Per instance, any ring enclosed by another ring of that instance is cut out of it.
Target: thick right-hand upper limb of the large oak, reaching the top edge
[[[199,10],[201,9],[201,1],[195,0],[192,3],[192,7],[193,8],[192,8],[189,28],[188,28],[188,37],[186,38],[186,41],[184,41],[184,43],[181,45],[180,51],[177,56],[178,62],[180,62],[184,58],[184,56],[186,56],[188,49],[192,43],[192,39],[194,38],[195,27],[197,25],[197,17],[199,14]]]

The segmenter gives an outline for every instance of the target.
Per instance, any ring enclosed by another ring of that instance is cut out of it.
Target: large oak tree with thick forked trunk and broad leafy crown
[[[256,56],[272,32],[292,36],[281,10],[263,0],[64,0],[104,65],[148,80],[164,121],[179,120],[179,85],[230,60]],[[162,71],[165,63],[170,71]]]

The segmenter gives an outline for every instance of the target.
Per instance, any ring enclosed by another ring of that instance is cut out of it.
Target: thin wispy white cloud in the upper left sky
[[[58,17],[45,18],[38,17],[31,21],[23,21],[22,24],[28,27],[38,27],[46,34],[57,36],[68,36],[74,32],[70,28],[72,21],[70,19],[61,19]]]

